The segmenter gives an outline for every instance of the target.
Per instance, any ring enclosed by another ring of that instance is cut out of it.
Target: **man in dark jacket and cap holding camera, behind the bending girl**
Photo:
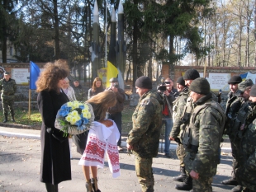
[[[124,102],[126,101],[125,91],[119,88],[117,78],[111,78],[109,80],[111,83],[110,87],[107,90],[114,91],[116,93],[116,105],[109,108],[107,111],[107,119],[112,119],[115,121],[116,126],[120,132],[120,138],[117,142],[118,151],[122,151],[121,148],[121,111],[124,110]]]

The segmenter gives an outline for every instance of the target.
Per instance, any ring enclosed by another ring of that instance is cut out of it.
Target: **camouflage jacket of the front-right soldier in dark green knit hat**
[[[215,176],[219,162],[220,140],[225,124],[225,112],[219,103],[212,100],[211,93],[193,103],[193,111],[197,111],[196,107],[205,103],[211,103],[211,105],[206,105],[195,115],[193,112],[187,126],[187,129],[190,129],[188,130],[190,139],[186,151],[195,155],[190,159],[193,171],[199,173],[199,176]],[[218,105],[219,110],[213,105]],[[184,138],[183,141],[185,140]]]

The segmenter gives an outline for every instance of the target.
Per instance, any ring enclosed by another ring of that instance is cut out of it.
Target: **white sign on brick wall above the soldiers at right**
[[[209,73],[207,80],[211,85],[211,91],[230,91],[230,73]]]

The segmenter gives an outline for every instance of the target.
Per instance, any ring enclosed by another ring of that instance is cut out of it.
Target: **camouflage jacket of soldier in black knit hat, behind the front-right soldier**
[[[177,138],[180,133],[180,126],[183,124],[183,110],[186,106],[188,97],[188,87],[185,87],[173,102],[173,128],[169,135],[170,137]]]

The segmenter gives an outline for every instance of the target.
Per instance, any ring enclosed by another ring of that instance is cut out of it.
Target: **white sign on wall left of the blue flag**
[[[28,85],[28,68],[12,68],[12,78],[18,85]]]

